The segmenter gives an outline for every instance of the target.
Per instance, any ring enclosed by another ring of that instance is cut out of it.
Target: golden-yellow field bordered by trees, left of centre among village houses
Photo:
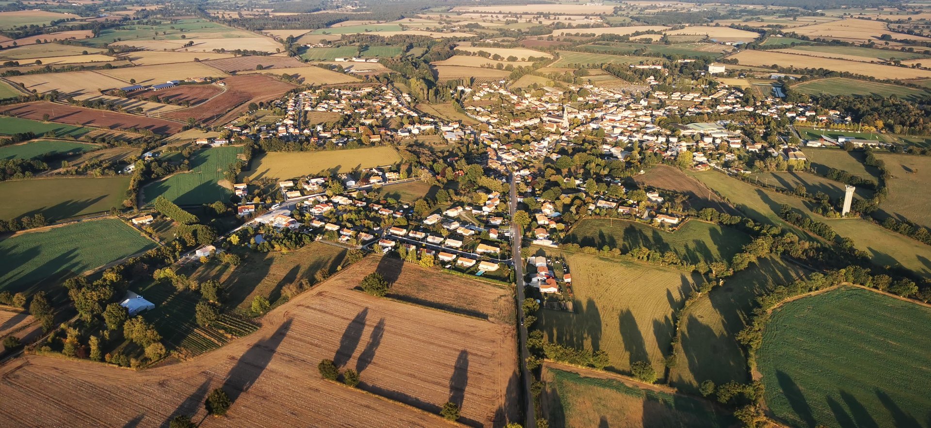
[[[283,180],[316,174],[325,169],[337,168],[340,172],[348,172],[354,167],[378,167],[394,164],[398,160],[398,152],[385,146],[324,152],[273,152],[260,154],[252,159],[252,169],[244,171],[244,174],[252,180]]]

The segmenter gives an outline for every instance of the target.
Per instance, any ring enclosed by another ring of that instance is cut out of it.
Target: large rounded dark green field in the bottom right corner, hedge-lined
[[[791,426],[929,426],[931,308],[841,288],[777,308],[757,352],[766,405]]]

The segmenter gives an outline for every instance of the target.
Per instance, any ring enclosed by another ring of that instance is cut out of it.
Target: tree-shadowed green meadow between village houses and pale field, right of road
[[[692,264],[730,262],[749,241],[747,234],[704,221],[686,221],[670,233],[637,221],[610,219],[579,221],[564,240],[583,247],[621,248],[624,252],[637,247],[673,251]]]

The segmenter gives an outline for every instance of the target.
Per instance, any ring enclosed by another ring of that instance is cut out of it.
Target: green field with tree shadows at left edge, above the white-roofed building
[[[50,278],[80,274],[154,247],[154,242],[115,219],[18,234],[0,241],[4,260],[0,263],[0,290],[60,291],[61,286],[48,281]]]

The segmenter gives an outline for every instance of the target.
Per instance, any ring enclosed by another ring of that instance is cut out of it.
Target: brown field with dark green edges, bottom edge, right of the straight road
[[[584,368],[546,363],[541,403],[549,426],[727,427],[734,418],[692,395]]]

